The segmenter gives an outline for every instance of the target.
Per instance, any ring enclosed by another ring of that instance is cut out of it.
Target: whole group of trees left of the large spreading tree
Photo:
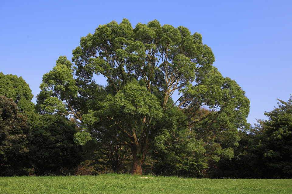
[[[0,176],[74,174],[82,160],[75,122],[34,113],[29,85],[16,75],[0,78]]]

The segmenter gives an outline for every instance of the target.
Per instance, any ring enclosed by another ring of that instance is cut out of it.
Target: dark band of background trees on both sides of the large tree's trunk
[[[13,77],[17,78],[16,75]],[[82,132],[78,121],[64,115],[39,115],[33,109],[25,111],[25,106],[20,104],[18,107],[16,100],[7,98],[9,94],[3,92],[3,87],[0,89],[0,176],[130,172],[131,153],[125,147],[93,139],[87,132]],[[151,150],[151,156],[144,163],[144,174],[291,178],[291,96],[287,102],[279,102],[279,108],[265,112],[268,120],[258,120],[254,127],[238,130],[240,140],[233,147],[234,157],[194,166],[189,158],[175,152]]]

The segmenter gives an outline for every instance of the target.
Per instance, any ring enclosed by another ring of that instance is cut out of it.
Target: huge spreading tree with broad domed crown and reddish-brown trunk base
[[[113,21],[82,37],[73,56],[75,65],[61,56],[43,76],[37,109],[72,115],[88,132],[128,146],[133,174],[142,173],[153,146],[187,138],[184,147],[191,152],[197,141],[211,145],[214,137],[246,125],[245,92],[212,66],[214,55],[202,36],[183,26],[154,20],[133,29],[127,19]],[[96,75],[107,79],[105,87],[96,84]],[[208,112],[198,115],[203,108]],[[196,138],[186,135],[192,126]]]

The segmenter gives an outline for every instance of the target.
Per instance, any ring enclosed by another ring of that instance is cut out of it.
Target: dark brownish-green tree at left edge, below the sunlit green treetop
[[[0,176],[25,174],[23,157],[29,151],[30,126],[13,99],[0,96]]]

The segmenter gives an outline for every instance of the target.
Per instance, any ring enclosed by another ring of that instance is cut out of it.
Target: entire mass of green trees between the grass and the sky
[[[201,34],[123,19],[72,55],[43,75],[36,104],[0,73],[0,176],[292,178],[292,97],[247,123],[249,99]]]

